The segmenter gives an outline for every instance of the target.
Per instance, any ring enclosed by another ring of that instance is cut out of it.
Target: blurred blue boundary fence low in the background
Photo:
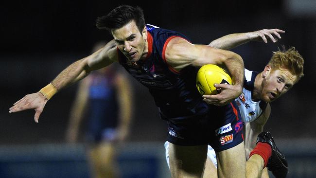
[[[287,178],[315,178],[316,140],[277,140],[289,163]],[[122,178],[170,178],[162,142],[118,148]],[[273,178],[273,176],[270,176]],[[83,144],[0,146],[0,178],[89,178]]]

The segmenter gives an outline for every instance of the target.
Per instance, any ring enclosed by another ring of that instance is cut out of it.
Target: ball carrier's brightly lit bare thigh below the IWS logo
[[[216,152],[218,178],[246,178],[244,142],[224,151]]]

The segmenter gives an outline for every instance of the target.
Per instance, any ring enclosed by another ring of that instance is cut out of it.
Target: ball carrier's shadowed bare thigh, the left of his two
[[[207,144],[198,146],[169,144],[172,178],[201,178],[206,158]]]

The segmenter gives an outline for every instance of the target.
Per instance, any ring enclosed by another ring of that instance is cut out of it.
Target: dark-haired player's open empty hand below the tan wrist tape
[[[9,108],[9,113],[35,109],[34,120],[38,123],[39,115],[42,113],[47,101],[47,98],[40,92],[28,94],[13,104],[14,106]]]

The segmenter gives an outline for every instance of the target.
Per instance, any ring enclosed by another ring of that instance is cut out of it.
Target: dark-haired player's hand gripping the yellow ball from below
[[[218,94],[203,95],[203,100],[209,105],[224,106],[241,95],[243,88],[237,85],[214,84]]]

